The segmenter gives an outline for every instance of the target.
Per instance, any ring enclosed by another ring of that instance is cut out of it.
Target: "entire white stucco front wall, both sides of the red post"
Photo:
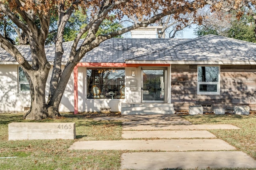
[[[64,66],[62,67],[62,69]],[[135,70],[135,76],[132,76]],[[46,83],[46,101],[48,98],[50,76]],[[167,72],[167,102],[171,103],[170,67]],[[125,68],[125,99],[87,99],[86,67],[78,67],[78,111],[100,111],[100,108],[111,108],[111,111],[121,111],[121,103],[140,103],[141,100],[141,67]],[[136,82],[137,89],[130,88],[131,83]],[[30,93],[18,93],[18,64],[0,64],[0,112],[24,111],[24,107],[30,107]],[[71,74],[61,100],[59,111],[74,111],[74,73]]]

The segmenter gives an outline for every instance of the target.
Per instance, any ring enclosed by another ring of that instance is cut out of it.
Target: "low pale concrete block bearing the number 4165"
[[[12,122],[8,124],[9,141],[26,139],[75,139],[75,123]]]

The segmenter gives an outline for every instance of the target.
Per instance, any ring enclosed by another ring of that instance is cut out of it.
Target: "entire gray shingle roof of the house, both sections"
[[[63,43],[63,62],[68,61],[72,43]],[[29,46],[16,47],[31,61]],[[53,62],[55,46],[45,47],[45,51],[48,61]],[[15,59],[0,48],[0,62],[4,61]],[[108,39],[86,53],[81,60],[91,63],[125,61],[256,61],[256,43],[217,35],[195,39]]]

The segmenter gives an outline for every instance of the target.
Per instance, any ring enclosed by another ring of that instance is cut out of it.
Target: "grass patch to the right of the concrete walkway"
[[[208,131],[256,159],[256,115],[186,115],[182,117],[193,124],[231,124],[240,127],[241,129]]]

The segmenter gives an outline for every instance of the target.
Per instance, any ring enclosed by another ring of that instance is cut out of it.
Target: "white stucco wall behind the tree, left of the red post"
[[[46,83],[46,101],[51,73],[52,69]],[[30,107],[30,93],[18,92],[18,64],[0,64],[0,112],[20,112],[24,107]],[[70,76],[59,110],[74,111],[74,74]]]

